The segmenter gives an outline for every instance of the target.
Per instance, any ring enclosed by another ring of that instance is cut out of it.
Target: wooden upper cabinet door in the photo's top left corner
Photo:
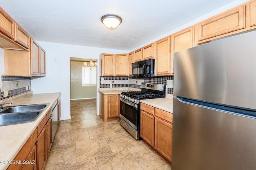
[[[11,39],[14,39],[14,23],[12,17],[0,7],[0,31]]]

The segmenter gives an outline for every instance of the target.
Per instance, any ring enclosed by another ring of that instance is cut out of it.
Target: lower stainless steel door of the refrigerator
[[[256,169],[256,119],[174,98],[172,170]]]

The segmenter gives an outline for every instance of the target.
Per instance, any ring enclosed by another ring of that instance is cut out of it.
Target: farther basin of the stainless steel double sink
[[[23,111],[35,111],[44,109],[47,104],[32,104],[32,105],[23,105],[23,106],[8,106],[0,113],[16,113],[16,112],[23,112]]]

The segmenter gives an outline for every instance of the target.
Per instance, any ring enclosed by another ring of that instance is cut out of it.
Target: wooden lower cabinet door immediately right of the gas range
[[[154,147],[154,116],[140,110],[140,137]]]

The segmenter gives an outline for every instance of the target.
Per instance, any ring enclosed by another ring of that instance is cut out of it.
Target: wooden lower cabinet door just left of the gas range
[[[109,94],[108,95],[108,118],[118,116],[118,94]]]

